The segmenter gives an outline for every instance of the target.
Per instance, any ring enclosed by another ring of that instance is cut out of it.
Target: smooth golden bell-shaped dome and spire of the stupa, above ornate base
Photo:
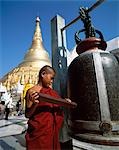
[[[32,44],[28,52],[24,57],[24,61],[19,65],[20,67],[31,66],[41,68],[44,65],[50,65],[50,59],[48,52],[43,46],[41,28],[40,28],[40,19],[36,18],[36,28],[32,40]]]

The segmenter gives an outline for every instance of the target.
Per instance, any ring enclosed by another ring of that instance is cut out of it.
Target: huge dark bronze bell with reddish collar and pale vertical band
[[[71,110],[71,135],[86,142],[119,145],[119,61],[104,51],[107,44],[102,35],[77,44],[79,56],[68,68],[69,98],[78,104]]]

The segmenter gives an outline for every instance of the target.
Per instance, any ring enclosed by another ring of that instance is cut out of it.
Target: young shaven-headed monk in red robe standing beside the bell
[[[59,105],[40,101],[39,93],[60,98],[52,87],[55,70],[44,66],[39,72],[38,84],[26,93],[25,116],[29,118],[25,135],[27,150],[60,150],[59,130],[63,112]]]

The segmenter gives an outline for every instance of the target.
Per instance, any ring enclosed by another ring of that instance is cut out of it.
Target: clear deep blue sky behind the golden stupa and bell
[[[0,0],[0,78],[16,67],[31,46],[35,19],[41,19],[44,46],[51,56],[51,19],[59,14],[66,24],[79,15],[79,7],[90,7],[96,0]],[[119,36],[119,1],[106,0],[90,13],[93,25],[106,41]],[[75,45],[74,34],[83,28],[81,21],[67,32],[68,49]]]

